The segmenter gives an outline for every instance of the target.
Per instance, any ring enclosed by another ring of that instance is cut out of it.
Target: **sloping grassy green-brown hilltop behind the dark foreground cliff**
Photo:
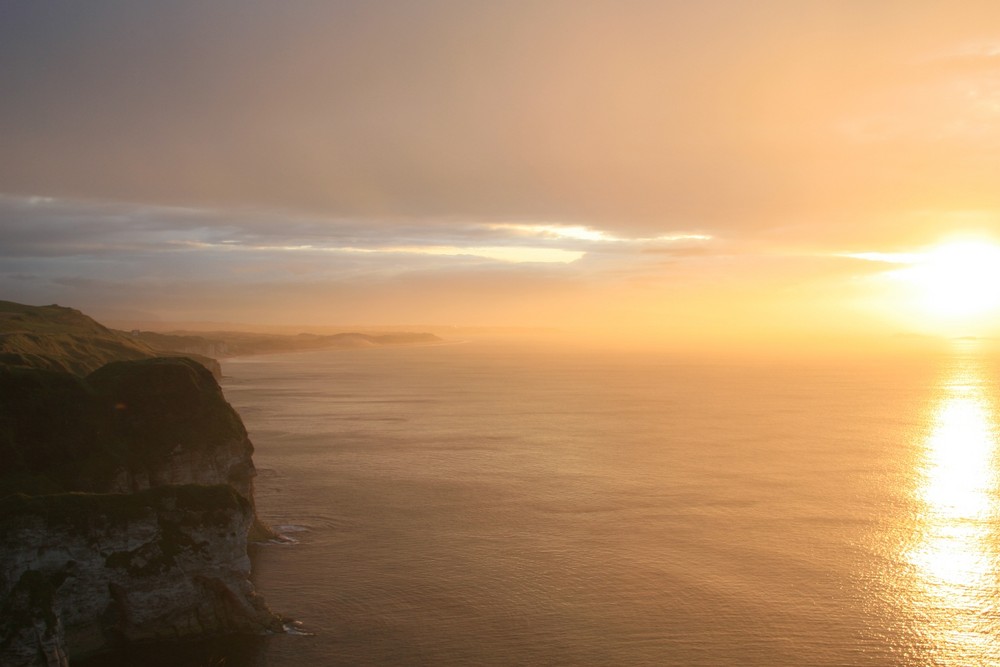
[[[197,353],[154,349],[63,306],[0,301],[0,364],[87,375],[111,361],[186,356],[216,376],[218,362]]]

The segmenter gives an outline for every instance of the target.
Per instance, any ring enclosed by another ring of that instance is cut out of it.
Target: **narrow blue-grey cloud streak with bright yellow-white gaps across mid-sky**
[[[292,214],[0,197],[0,253],[390,253],[565,262],[621,246],[689,244],[706,235],[626,238],[581,225],[409,219],[322,220]],[[552,259],[546,260],[545,253]]]

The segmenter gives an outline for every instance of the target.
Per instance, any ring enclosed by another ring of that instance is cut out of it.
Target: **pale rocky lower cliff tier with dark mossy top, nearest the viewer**
[[[226,485],[0,501],[0,664],[281,631],[249,581],[250,504]]]

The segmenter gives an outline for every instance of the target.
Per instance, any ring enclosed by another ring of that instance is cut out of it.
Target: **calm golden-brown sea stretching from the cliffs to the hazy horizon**
[[[229,360],[259,511],[296,540],[255,579],[313,634],[225,664],[1000,665],[998,369]]]

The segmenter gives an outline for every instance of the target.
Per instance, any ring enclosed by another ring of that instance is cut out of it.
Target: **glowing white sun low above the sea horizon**
[[[944,243],[915,255],[901,273],[930,315],[971,320],[1000,311],[1000,246],[994,243]]]

